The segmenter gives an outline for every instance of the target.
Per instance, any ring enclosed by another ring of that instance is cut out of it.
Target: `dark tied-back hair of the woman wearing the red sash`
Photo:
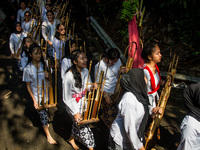
[[[156,42],[151,42],[149,44],[144,45],[141,56],[146,63],[150,62],[148,56],[152,55],[152,52],[154,51],[156,45],[158,45]]]

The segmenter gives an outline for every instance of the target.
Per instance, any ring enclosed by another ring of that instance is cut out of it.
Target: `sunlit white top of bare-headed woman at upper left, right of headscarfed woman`
[[[56,33],[56,26],[60,23],[60,20],[54,19],[53,24],[49,21],[44,21],[42,23],[42,36],[47,41],[47,34],[48,34],[48,40],[53,42],[55,33]]]

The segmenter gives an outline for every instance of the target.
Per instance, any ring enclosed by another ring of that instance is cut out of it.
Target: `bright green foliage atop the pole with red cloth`
[[[137,0],[127,0],[122,3],[122,16],[121,19],[125,22],[129,22],[133,19],[134,13],[136,13]]]

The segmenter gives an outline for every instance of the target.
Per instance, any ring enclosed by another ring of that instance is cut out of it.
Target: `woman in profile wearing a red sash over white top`
[[[142,53],[142,58],[145,60],[143,66],[144,74],[148,80],[147,82],[147,92],[149,97],[149,110],[156,112],[155,108],[158,104],[159,95],[158,89],[161,84],[160,70],[157,66],[157,63],[161,61],[160,48],[157,43],[151,42],[148,45],[145,45]]]

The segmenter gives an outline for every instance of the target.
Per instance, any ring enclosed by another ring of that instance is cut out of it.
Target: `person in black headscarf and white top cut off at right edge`
[[[187,87],[183,93],[183,100],[188,110],[181,129],[181,141],[177,150],[200,149],[200,83]]]

